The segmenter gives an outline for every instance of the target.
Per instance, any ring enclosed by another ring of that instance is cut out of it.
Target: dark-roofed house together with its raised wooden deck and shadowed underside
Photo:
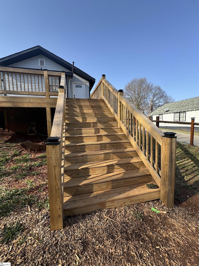
[[[67,98],[90,97],[95,79],[74,62],[70,64],[41,46],[1,58],[0,117],[4,113],[4,121],[0,124],[4,123],[8,130],[27,133],[31,122],[35,122],[38,133],[46,134],[44,125],[51,124],[62,72],[66,75]],[[39,100],[41,97],[46,99]]]

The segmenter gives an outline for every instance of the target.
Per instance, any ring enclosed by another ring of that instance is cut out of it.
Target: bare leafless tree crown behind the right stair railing
[[[127,83],[124,88],[124,95],[146,115],[163,104],[174,101],[160,86],[155,86],[146,78],[135,78]]]

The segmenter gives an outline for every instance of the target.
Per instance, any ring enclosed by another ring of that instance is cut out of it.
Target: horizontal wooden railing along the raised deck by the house
[[[58,96],[61,72],[0,67],[0,94]]]

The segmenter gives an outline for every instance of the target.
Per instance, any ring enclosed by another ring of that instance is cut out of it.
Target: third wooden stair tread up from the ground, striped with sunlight
[[[72,164],[65,164],[64,168],[65,171],[75,170],[75,169],[85,169],[85,168],[96,168],[96,167],[107,167],[109,165],[119,165],[119,164],[126,164],[126,163],[136,163],[142,162],[141,158],[134,157],[134,158],[124,158],[124,159],[113,159],[113,160],[106,160],[106,161],[96,161],[96,162],[83,162],[83,163],[72,163]]]

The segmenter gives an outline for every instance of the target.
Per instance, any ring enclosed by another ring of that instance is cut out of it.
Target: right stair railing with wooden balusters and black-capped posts
[[[91,99],[104,99],[148,171],[160,187],[160,200],[167,206],[174,205],[176,137],[163,136],[144,114],[126,97],[123,90],[115,89],[105,75],[97,84]]]

